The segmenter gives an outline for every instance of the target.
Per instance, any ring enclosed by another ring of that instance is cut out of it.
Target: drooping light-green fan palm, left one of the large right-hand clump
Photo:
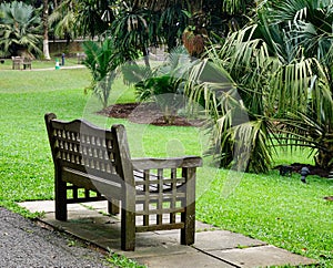
[[[186,95],[203,102],[211,117],[211,148],[221,167],[266,172],[272,163],[273,124],[265,115],[263,97],[266,70],[274,68],[266,45],[251,40],[255,28],[231,33],[213,45],[206,60],[189,76]],[[261,55],[261,61],[258,56]]]

